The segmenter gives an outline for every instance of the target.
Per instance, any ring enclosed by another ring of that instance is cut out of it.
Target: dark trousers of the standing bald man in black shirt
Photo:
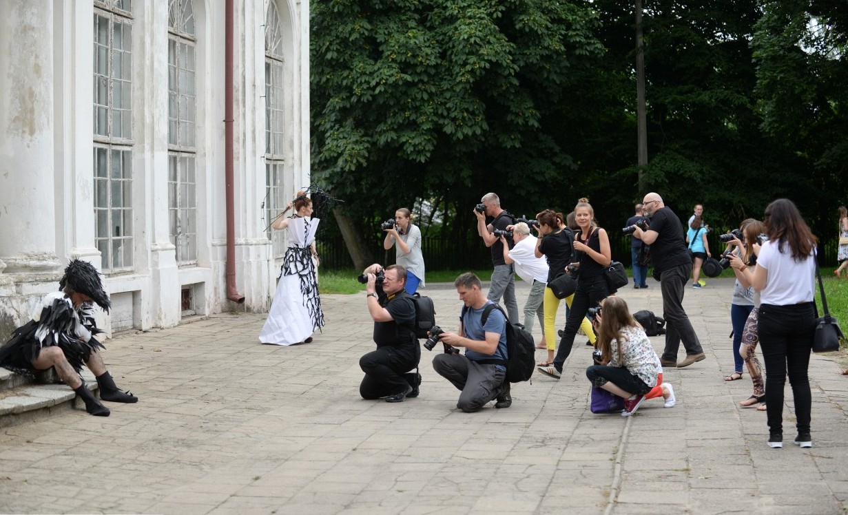
[[[662,359],[666,361],[678,361],[680,341],[683,341],[687,356],[704,352],[689,321],[689,315],[683,310],[683,291],[689,285],[691,272],[692,263],[680,264],[662,271],[662,318],[666,319],[666,348],[662,351]]]

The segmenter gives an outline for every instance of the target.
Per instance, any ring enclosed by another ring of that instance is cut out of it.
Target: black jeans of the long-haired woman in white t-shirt
[[[799,434],[810,432],[812,394],[807,368],[810,364],[816,316],[812,302],[789,306],[762,304],[758,329],[762,361],[766,364],[766,408],[768,429],[783,435],[784,385],[789,374],[795,399],[795,427]]]

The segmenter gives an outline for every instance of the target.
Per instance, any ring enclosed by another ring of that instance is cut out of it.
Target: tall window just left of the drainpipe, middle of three
[[[192,0],[168,3],[168,214],[176,263],[198,259],[197,92]]]

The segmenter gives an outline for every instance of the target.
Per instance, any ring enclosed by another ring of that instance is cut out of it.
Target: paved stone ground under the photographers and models
[[[632,311],[661,312],[649,284],[621,292]],[[118,335],[104,356],[141,401],[109,403],[109,418],[80,406],[3,429],[0,512],[844,513],[848,378],[813,356],[815,446],[792,445],[787,385],[786,448],[769,449],[765,413],[736,407],[747,374],[722,380],[733,371],[731,291],[711,280],[686,292],[707,358],[665,370],[676,407],[646,401],[632,418],[589,412],[582,336],[561,381],[515,385],[509,409],[461,413],[427,351],[420,397],[364,401],[358,359],[373,344],[362,295],[324,296],[327,326],[303,346],[259,345],[265,317],[254,314]],[[455,329],[452,285],[425,293]],[[651,340],[661,351],[663,337]]]

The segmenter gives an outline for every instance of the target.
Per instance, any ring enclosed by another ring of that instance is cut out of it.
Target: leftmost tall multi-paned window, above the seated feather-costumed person
[[[132,5],[94,1],[94,241],[104,272],[132,269]]]

